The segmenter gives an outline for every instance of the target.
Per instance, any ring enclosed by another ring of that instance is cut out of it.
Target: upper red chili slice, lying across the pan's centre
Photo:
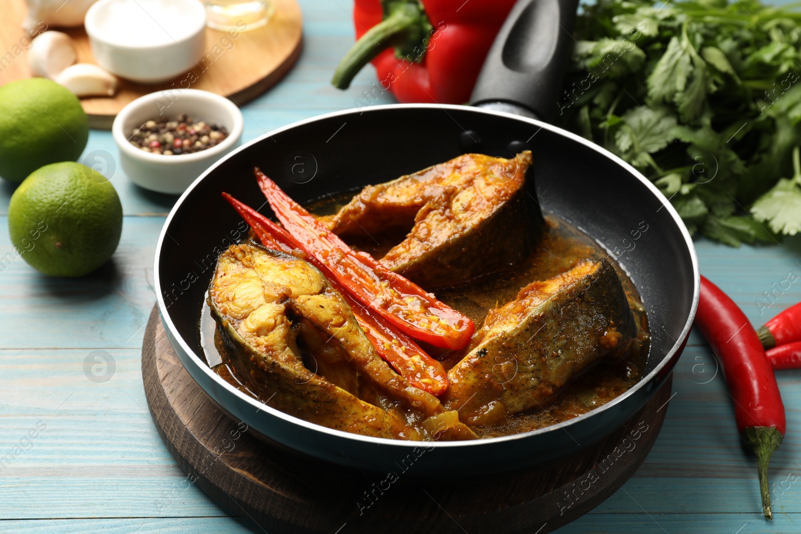
[[[287,231],[308,255],[324,263],[356,299],[414,339],[451,349],[469,343],[476,329],[469,317],[390,271],[371,255],[353,251],[259,169],[254,172],[261,191]]]

